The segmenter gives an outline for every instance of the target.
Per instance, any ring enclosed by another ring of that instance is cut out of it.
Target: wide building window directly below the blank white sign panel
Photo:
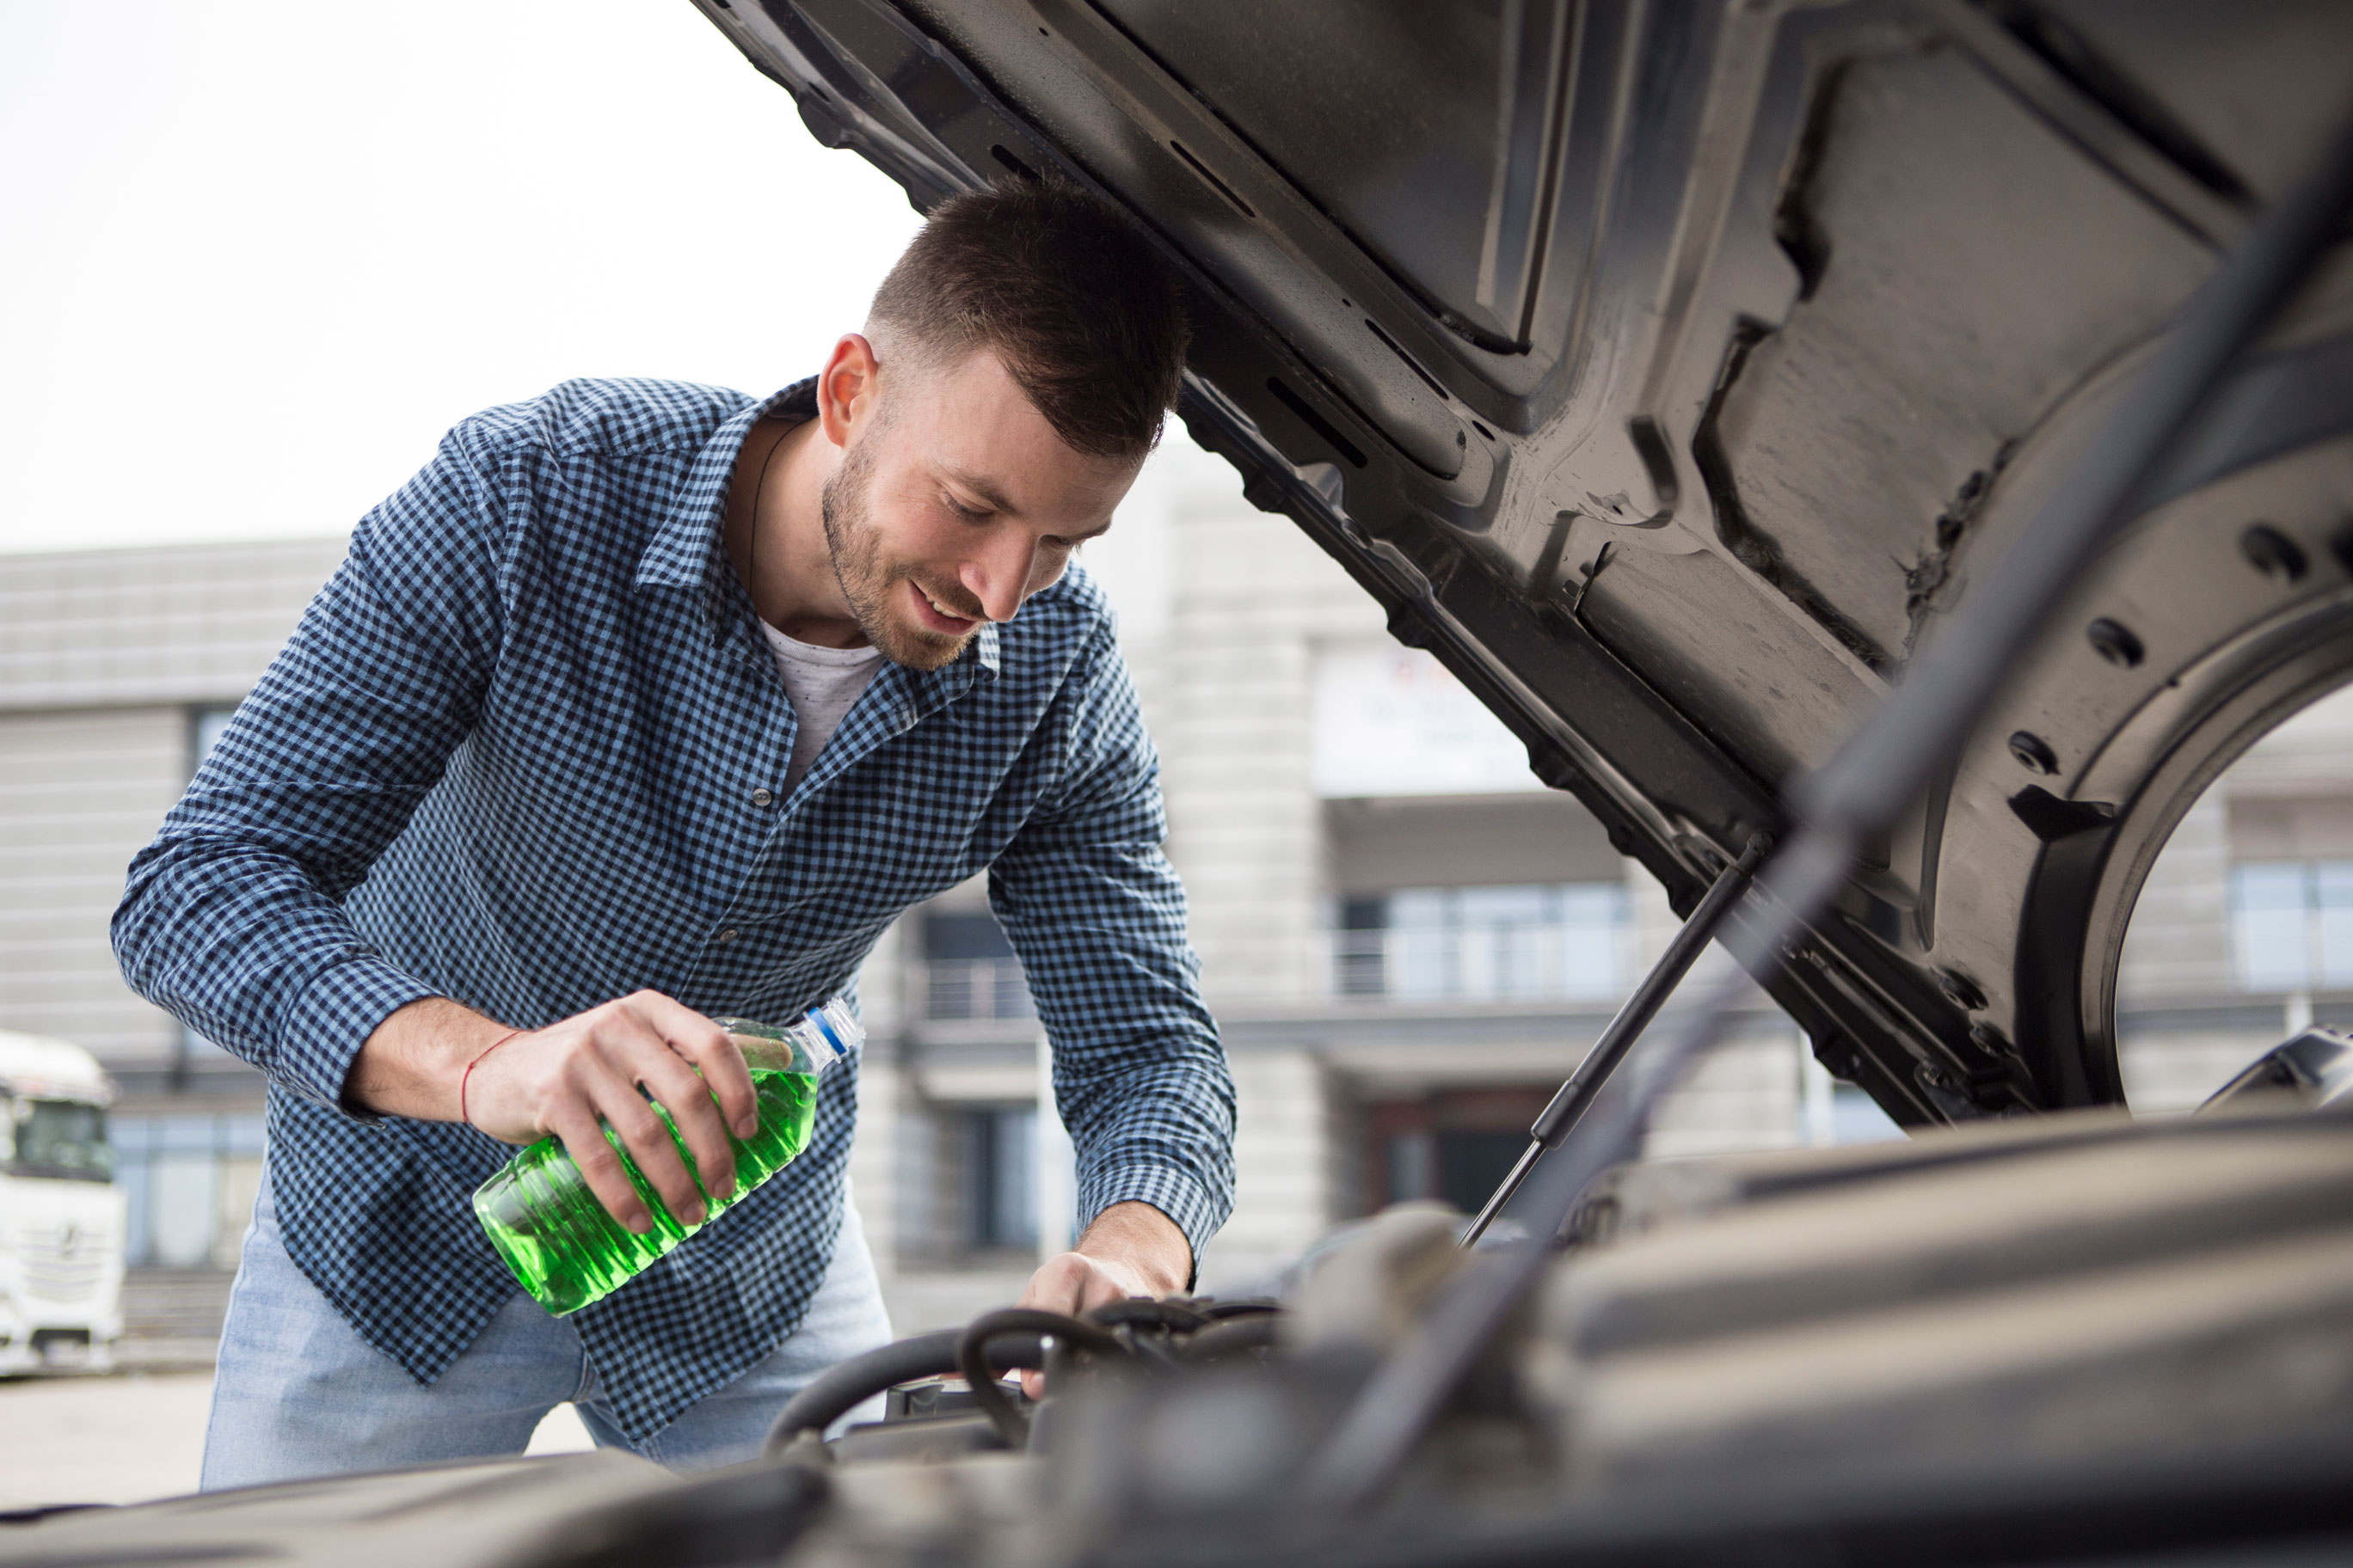
[[[1628,940],[1617,882],[1344,898],[1332,990],[1398,1001],[1607,999],[1626,985]]]

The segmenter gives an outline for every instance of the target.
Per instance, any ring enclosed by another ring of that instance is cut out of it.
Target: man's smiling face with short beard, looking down
[[[826,480],[826,543],[859,630],[915,670],[1054,585],[1141,468],[1066,447],[988,350],[887,381],[868,421]]]

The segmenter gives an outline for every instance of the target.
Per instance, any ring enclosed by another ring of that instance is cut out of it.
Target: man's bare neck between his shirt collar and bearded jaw
[[[814,418],[758,421],[727,491],[727,557],[762,621],[824,649],[866,644],[826,545],[833,449]]]

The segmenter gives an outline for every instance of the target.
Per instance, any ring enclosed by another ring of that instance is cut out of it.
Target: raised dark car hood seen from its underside
[[[1184,421],[1687,912],[1904,677],[2346,99],[2327,0],[696,0],[918,207],[1184,270]],[[2172,825],[2346,677],[2353,275],[1758,976],[1918,1126],[2115,1103]]]

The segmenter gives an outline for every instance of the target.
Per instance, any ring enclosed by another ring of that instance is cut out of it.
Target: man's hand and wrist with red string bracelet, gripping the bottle
[[[489,1056],[482,1056],[485,1048]],[[715,1023],[661,992],[635,992],[522,1032],[456,1001],[412,1001],[360,1046],[344,1095],[393,1117],[468,1119],[504,1143],[553,1133],[605,1211],[638,1234],[652,1229],[654,1218],[600,1121],[612,1124],[664,1208],[685,1225],[704,1220],[704,1194],[647,1095],[678,1121],[678,1135],[715,1199],[734,1192],[727,1131],[751,1138],[760,1128],[744,1053]]]

